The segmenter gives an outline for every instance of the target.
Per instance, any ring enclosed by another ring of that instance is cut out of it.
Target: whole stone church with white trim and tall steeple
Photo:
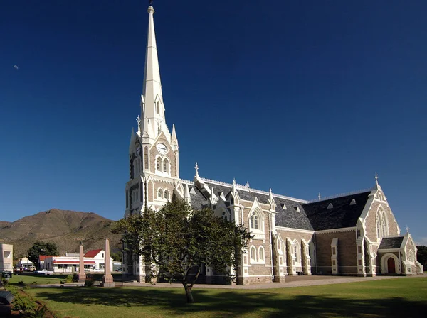
[[[315,202],[209,180],[179,177],[179,146],[164,117],[164,99],[154,33],[154,8],[148,8],[148,35],[141,95],[141,118],[129,145],[130,180],[125,186],[125,217],[158,209],[173,198],[194,209],[210,207],[217,216],[243,224],[254,235],[237,284],[283,282],[287,275],[415,275],[423,273],[411,234],[401,234],[376,177],[374,187]],[[146,281],[147,267],[124,253],[125,275]],[[203,268],[200,283],[224,283],[223,275]]]

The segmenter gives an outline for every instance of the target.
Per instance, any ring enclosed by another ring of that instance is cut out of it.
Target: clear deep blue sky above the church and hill
[[[139,114],[144,1],[0,10],[0,219],[120,219]],[[426,1],[154,1],[181,177],[302,199],[379,183],[427,243]],[[16,65],[18,69],[14,67]]]

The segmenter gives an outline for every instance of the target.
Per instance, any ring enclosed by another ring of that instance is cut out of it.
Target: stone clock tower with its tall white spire
[[[164,118],[164,99],[154,33],[154,8],[148,7],[147,50],[142,95],[141,117],[137,117],[137,132],[132,128],[129,145],[129,175],[126,183],[125,217],[142,214],[144,209],[159,209],[182,197],[184,188],[179,180],[179,150],[175,126],[172,133]],[[123,255],[125,273],[144,281],[147,266],[138,256]]]

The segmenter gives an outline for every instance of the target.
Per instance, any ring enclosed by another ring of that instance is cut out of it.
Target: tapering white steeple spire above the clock
[[[156,34],[154,32],[154,8],[152,6],[148,7],[148,13],[147,51],[145,53],[141,103],[142,123],[144,126],[142,133],[147,132],[150,138],[156,138],[161,131],[164,131],[170,138],[170,133],[164,120],[162,82],[160,81]]]

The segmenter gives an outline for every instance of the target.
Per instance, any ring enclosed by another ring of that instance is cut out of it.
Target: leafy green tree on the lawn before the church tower
[[[181,282],[187,302],[194,302],[191,289],[203,263],[235,280],[230,269],[239,270],[241,251],[253,237],[243,226],[214,216],[211,209],[194,211],[180,200],[121,219],[113,231],[124,233],[125,251],[151,265],[152,278]]]

